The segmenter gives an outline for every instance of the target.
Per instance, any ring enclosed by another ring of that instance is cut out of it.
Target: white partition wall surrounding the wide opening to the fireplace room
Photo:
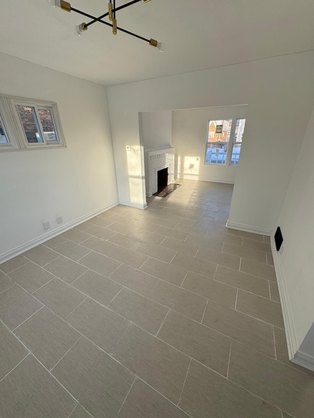
[[[229,221],[275,228],[313,108],[314,52],[111,86],[107,93],[119,197],[139,205],[146,198],[138,112],[248,104]],[[128,143],[137,148],[127,158]]]

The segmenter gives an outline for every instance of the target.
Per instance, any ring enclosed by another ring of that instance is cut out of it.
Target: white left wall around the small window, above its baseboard
[[[58,104],[67,148],[0,153],[0,256],[117,201],[104,86],[0,54],[0,92]],[[61,224],[62,225],[62,224]]]

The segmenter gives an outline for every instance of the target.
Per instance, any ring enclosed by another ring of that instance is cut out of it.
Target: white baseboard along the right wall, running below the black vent
[[[276,277],[277,277],[281,308],[282,308],[283,317],[284,317],[287,346],[288,346],[288,355],[289,355],[289,360],[292,360],[298,351],[296,333],[295,333],[294,323],[292,319],[292,312],[291,312],[291,307],[289,303],[284,273],[283,273],[282,266],[281,266],[280,255],[279,255],[279,252],[276,250],[274,236],[270,237],[270,244],[271,244],[271,252],[273,255],[273,259],[274,259],[274,266],[275,266],[275,272],[276,272]]]

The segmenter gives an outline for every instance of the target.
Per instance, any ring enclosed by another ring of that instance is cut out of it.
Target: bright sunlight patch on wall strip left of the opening
[[[130,201],[142,206],[144,176],[141,172],[141,147],[139,145],[132,145],[130,148],[130,151],[126,151]]]

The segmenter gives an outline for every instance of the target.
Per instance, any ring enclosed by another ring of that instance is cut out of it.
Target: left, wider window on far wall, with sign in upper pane
[[[205,164],[226,164],[232,119],[209,121]]]

